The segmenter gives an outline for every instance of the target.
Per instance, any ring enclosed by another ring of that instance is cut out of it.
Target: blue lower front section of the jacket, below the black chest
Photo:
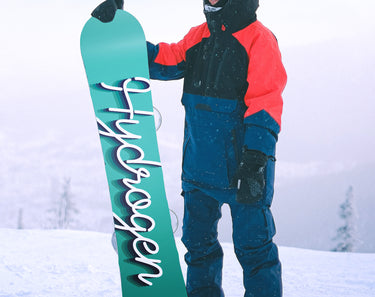
[[[229,188],[238,165],[238,101],[184,95],[183,104],[183,179],[204,187]]]

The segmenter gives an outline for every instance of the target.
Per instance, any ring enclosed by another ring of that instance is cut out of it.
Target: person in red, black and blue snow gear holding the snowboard
[[[178,43],[147,43],[150,77],[184,78],[182,241],[189,297],[223,297],[217,226],[229,205],[245,297],[282,296],[270,210],[286,72],[258,0],[204,0],[206,22]],[[94,10],[113,19],[123,1]]]

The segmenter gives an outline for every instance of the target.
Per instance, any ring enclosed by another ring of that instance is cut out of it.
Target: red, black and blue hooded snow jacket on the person
[[[180,42],[148,43],[152,79],[184,78],[187,182],[228,187],[244,145],[275,154],[286,73],[275,36],[256,20],[257,7],[257,0],[228,0],[219,11],[205,10],[207,22]],[[207,168],[194,165],[201,158]]]

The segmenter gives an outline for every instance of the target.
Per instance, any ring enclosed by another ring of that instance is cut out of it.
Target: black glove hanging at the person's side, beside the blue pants
[[[236,201],[251,204],[262,200],[266,184],[264,171],[268,156],[260,151],[244,148],[242,161],[231,186],[238,189]]]

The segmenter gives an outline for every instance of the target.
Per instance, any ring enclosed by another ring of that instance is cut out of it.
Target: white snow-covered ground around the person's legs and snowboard
[[[176,238],[182,270],[184,247]],[[223,287],[243,296],[241,269],[223,243]],[[375,296],[375,254],[280,247],[284,296]],[[121,296],[117,255],[106,233],[0,229],[0,297]]]

